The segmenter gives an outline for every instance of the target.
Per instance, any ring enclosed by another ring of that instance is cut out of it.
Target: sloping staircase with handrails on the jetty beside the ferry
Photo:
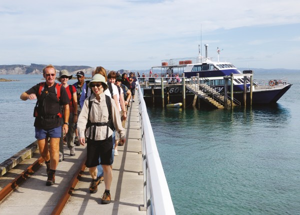
[[[225,105],[227,105],[227,108],[231,107],[230,97],[228,97],[227,104],[225,104],[223,94],[218,93],[213,89],[213,87],[208,86],[205,83],[201,83],[201,81],[192,81],[191,83],[186,84],[185,87],[199,97],[199,99],[214,108],[224,109]],[[233,106],[236,106],[236,104],[233,103]]]

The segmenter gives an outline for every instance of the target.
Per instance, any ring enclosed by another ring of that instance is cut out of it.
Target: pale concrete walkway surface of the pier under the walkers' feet
[[[138,93],[135,102],[128,110],[126,122],[126,143],[118,146],[118,156],[114,157],[112,166],[112,184],[110,188],[111,203],[101,204],[104,192],[104,182],[98,185],[96,193],[89,193],[91,177],[85,168],[83,175],[75,186],[61,214],[146,214],[140,207],[144,204],[144,179],[142,172],[141,132],[139,122]],[[33,129],[33,128],[32,128]],[[55,184],[46,186],[46,167],[40,166],[29,179],[21,183],[15,190],[0,202],[0,214],[51,214],[58,201],[61,201],[69,181],[74,177],[86,157],[86,145],[75,147],[75,156],[65,156],[59,162],[55,174]],[[19,174],[21,169],[39,157],[33,153],[30,159],[24,159],[20,164],[0,177],[0,188]]]

